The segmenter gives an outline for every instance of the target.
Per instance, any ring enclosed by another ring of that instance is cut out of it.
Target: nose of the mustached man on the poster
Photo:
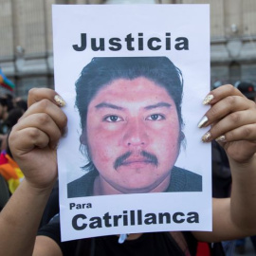
[[[144,120],[131,119],[125,127],[123,136],[124,146],[141,147],[148,144],[149,137]]]

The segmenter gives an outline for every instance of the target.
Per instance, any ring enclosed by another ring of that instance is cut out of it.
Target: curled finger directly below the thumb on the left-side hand
[[[23,119],[27,119],[27,117],[29,116],[39,113],[46,114],[56,123],[60,130],[64,131],[64,127],[66,126],[67,122],[64,112],[52,101],[46,99],[32,104],[24,113],[23,117],[19,120],[19,122]]]

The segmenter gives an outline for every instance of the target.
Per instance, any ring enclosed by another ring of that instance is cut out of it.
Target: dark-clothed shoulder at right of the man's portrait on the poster
[[[167,192],[202,192],[202,175],[174,166]]]

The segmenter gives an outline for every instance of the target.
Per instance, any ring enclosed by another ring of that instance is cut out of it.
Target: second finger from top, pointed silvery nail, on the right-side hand
[[[239,112],[247,109],[255,110],[255,102],[249,101],[245,97],[240,96],[228,96],[222,101],[218,101],[210,107],[210,110],[199,121],[198,127],[207,127],[214,122],[218,122],[220,119],[224,119],[231,113]],[[255,114],[253,114],[254,116]],[[231,118],[239,118],[239,116],[233,115]]]

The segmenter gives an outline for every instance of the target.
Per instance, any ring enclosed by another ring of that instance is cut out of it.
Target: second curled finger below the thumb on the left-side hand
[[[14,126],[14,131],[21,131],[27,128],[34,128],[45,133],[48,137],[50,147],[55,147],[62,136],[58,125],[46,113],[36,113],[28,116],[26,119],[20,120]]]

